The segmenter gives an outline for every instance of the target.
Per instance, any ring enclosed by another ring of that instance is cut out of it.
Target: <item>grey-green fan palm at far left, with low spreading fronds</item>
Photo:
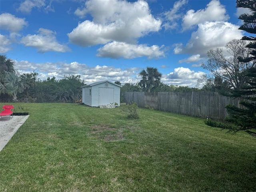
[[[0,82],[0,93],[12,95],[13,101],[17,102],[17,94],[22,93],[27,86],[26,80],[20,78],[18,72],[8,72],[4,77],[4,83]]]

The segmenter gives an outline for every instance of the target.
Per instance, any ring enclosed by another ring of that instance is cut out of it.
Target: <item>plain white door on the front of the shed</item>
[[[99,105],[114,103],[114,88],[99,88]]]

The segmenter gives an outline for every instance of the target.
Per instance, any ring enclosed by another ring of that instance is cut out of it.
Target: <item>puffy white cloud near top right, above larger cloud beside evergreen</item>
[[[212,0],[204,10],[188,10],[183,17],[183,30],[188,30],[195,25],[205,21],[226,21],[229,16],[226,14],[226,9],[220,4],[219,0]]]

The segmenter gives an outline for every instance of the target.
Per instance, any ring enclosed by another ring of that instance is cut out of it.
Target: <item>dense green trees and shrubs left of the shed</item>
[[[19,74],[14,61],[0,55],[0,102],[76,102],[85,85],[80,75],[40,80],[37,72]]]

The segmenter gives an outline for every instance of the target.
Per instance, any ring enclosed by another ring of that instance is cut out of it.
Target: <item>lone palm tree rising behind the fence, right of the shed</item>
[[[146,71],[143,69],[139,76],[142,77],[140,80],[140,86],[150,92],[153,87],[156,87],[160,84],[162,74],[155,67],[147,67]]]

